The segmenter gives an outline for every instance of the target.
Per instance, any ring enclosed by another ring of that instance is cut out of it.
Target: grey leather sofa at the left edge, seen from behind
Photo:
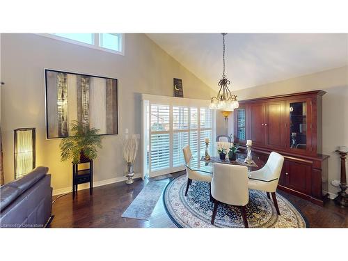
[[[52,213],[51,175],[38,167],[0,187],[0,228],[43,228]]]

